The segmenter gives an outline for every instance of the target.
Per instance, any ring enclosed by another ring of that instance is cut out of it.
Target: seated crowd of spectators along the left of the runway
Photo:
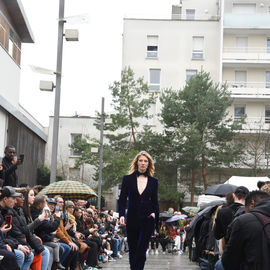
[[[0,195],[1,270],[95,270],[128,250],[112,210],[84,200],[5,186]]]

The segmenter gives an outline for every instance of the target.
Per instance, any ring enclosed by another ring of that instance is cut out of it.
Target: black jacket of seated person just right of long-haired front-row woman
[[[42,211],[38,210],[34,206],[31,207],[31,216],[32,219],[35,220]],[[52,234],[55,232],[60,225],[60,218],[56,218],[55,220],[43,220],[41,224],[35,229],[35,233],[39,236],[43,242],[51,242],[56,236]]]

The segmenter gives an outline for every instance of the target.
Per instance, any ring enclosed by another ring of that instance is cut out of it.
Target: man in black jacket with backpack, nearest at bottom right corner
[[[246,198],[246,211],[233,221],[229,241],[222,259],[216,263],[216,270],[270,269],[269,248],[263,248],[263,225],[255,216],[259,213],[269,219],[269,194],[257,190],[250,192]]]

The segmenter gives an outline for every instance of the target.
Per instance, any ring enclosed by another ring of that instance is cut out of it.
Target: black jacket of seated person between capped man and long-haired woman
[[[44,250],[44,246],[30,232],[22,209],[17,207],[9,209],[7,214],[12,215],[12,229],[9,231],[9,235],[17,239],[21,245],[27,245],[34,249],[35,253],[41,253]]]

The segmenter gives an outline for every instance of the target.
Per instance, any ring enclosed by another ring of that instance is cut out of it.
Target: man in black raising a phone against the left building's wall
[[[18,176],[16,174],[17,166],[22,164],[22,160],[18,159],[15,147],[8,145],[5,148],[5,157],[2,161],[3,166],[3,186],[18,186]]]

